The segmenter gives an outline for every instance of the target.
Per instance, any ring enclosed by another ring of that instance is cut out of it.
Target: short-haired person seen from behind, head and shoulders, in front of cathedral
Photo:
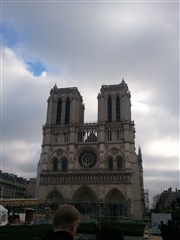
[[[73,205],[59,206],[53,220],[53,231],[48,232],[43,240],[73,240],[79,221],[80,213]]]

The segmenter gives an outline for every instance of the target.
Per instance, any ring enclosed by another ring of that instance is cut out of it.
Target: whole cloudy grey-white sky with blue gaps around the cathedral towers
[[[1,169],[36,177],[49,91],[78,87],[97,120],[125,79],[150,198],[179,178],[178,1],[1,1]]]

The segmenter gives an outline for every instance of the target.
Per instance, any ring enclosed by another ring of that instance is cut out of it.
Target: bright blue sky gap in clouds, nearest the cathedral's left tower
[[[40,76],[43,72],[46,71],[45,66],[39,61],[35,59],[28,59],[26,61],[28,70],[36,77]]]

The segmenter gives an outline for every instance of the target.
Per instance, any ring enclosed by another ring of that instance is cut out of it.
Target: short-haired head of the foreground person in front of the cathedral
[[[79,211],[71,204],[63,204],[56,210],[53,228],[54,231],[67,231],[75,236],[79,221]]]

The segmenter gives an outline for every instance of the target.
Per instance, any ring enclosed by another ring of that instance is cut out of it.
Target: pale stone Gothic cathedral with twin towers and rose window
[[[36,196],[72,203],[81,213],[141,219],[142,155],[135,151],[131,95],[124,80],[102,85],[98,120],[84,122],[76,87],[50,91],[37,170]]]

